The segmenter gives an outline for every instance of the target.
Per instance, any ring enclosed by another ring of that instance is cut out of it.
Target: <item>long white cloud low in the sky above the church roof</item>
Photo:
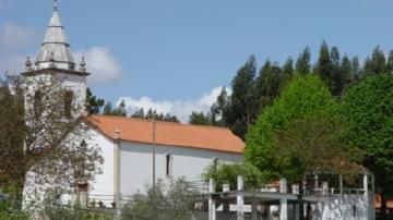
[[[148,109],[156,110],[159,113],[170,113],[176,115],[182,123],[187,123],[189,115],[192,111],[207,113],[211,106],[216,101],[222,91],[222,87],[213,88],[210,93],[204,94],[195,100],[175,100],[175,101],[155,101],[148,97],[135,99],[132,97],[120,97],[117,106],[124,100],[126,109],[129,114],[143,108],[145,111]]]

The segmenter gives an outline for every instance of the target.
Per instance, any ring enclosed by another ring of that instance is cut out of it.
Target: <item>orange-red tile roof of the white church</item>
[[[115,130],[119,130],[123,140],[146,144],[153,140],[153,122],[150,120],[108,115],[91,115],[87,120],[110,138],[115,138]],[[156,121],[156,144],[235,154],[241,154],[245,148],[245,143],[225,127],[159,121]]]

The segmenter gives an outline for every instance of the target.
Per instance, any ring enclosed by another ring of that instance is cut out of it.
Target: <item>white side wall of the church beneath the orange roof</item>
[[[121,178],[122,196],[131,196],[143,191],[153,180],[153,146],[150,144],[121,142]],[[243,157],[216,150],[204,150],[190,147],[156,146],[156,179],[166,180],[166,156],[171,157],[172,178],[186,178],[187,181],[201,181],[204,169],[214,158],[221,161],[241,162]]]

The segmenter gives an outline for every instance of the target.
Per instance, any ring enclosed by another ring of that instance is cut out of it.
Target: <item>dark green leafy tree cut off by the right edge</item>
[[[364,166],[376,175],[383,213],[393,195],[393,76],[368,76],[348,90],[341,110],[350,124],[348,139],[365,150]]]

